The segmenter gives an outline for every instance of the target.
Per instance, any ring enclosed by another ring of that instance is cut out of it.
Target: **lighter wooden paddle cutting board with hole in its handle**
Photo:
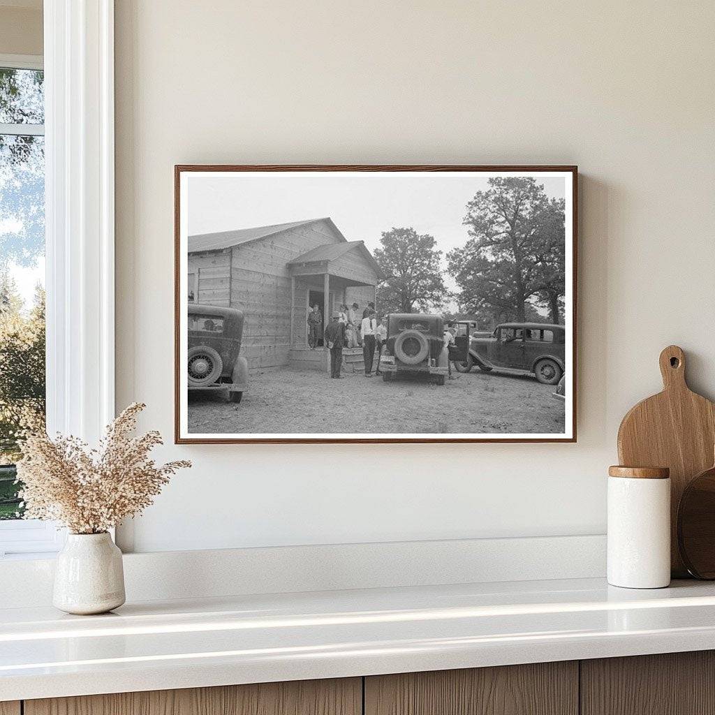
[[[663,392],[626,414],[618,428],[618,461],[628,467],[669,467],[671,474],[671,571],[688,576],[678,551],[677,514],[689,481],[712,466],[715,404],[685,381],[685,354],[669,345],[660,357]]]

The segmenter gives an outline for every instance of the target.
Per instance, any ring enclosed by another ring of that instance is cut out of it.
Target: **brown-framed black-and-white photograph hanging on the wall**
[[[575,442],[576,185],[175,167],[176,442]]]

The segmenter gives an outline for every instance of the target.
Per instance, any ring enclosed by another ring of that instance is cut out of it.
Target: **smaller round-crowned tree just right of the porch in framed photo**
[[[380,312],[435,310],[448,292],[442,277],[442,252],[429,234],[418,234],[412,227],[384,231],[382,247],[373,252],[385,273],[378,287]]]

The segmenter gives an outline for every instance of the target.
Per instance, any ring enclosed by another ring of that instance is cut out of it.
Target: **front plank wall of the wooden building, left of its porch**
[[[337,243],[327,224],[317,223],[233,248],[231,307],[245,313],[242,353],[251,370],[287,365],[290,350],[290,271],[287,262],[326,243]],[[305,336],[307,284],[295,281],[294,340]],[[317,290],[322,290],[322,286]]]

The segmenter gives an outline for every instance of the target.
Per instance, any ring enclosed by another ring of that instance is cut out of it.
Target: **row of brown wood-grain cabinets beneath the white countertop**
[[[715,715],[715,651],[0,702],[0,715]]]

